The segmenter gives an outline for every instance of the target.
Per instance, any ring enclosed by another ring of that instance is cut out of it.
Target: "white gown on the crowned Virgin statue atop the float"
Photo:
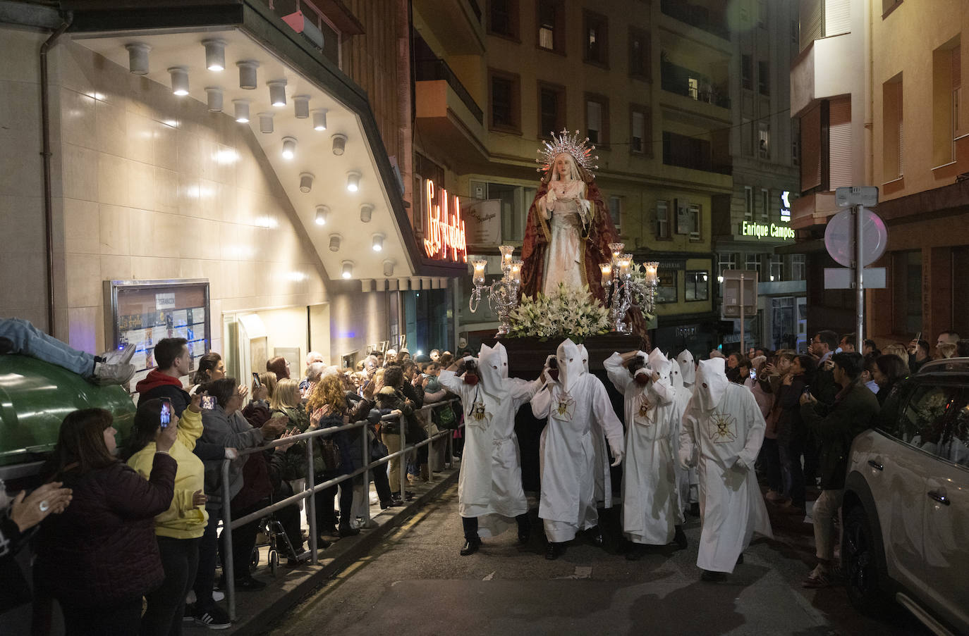
[[[557,182],[549,185],[555,187]],[[546,215],[551,213],[548,226],[551,238],[548,241],[545,262],[545,282],[543,293],[550,295],[558,288],[559,283],[564,283],[567,288],[582,287],[582,219],[579,209],[585,211],[588,218],[588,211],[591,209],[589,201],[581,198],[581,181],[570,182],[566,188],[565,195],[558,196],[551,204],[551,209],[547,209],[547,199],[540,201],[541,210]],[[548,218],[548,216],[546,216]]]

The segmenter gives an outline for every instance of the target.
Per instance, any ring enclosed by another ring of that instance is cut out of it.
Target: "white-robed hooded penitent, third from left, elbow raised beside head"
[[[623,395],[626,456],[622,471],[622,530],[634,543],[666,545],[682,523],[676,492],[677,422],[682,410],[670,384],[670,361],[659,348],[637,376],[659,379],[637,382],[613,353],[604,363],[616,390]]]

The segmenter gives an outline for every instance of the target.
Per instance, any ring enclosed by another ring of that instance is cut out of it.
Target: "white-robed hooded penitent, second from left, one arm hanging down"
[[[605,432],[612,455],[622,459],[622,424],[600,379],[583,372],[578,347],[558,346],[558,381],[532,398],[532,412],[547,417],[542,431],[542,518],[549,541],[562,543],[599,523],[593,435]]]

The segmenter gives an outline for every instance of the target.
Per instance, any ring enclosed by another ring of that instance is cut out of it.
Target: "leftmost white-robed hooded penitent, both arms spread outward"
[[[478,518],[478,535],[496,536],[528,512],[521,488],[521,460],[515,413],[542,385],[508,377],[508,352],[501,343],[482,345],[479,382],[466,384],[453,371],[440,382],[460,396],[464,409],[464,451],[457,480],[458,512]]]

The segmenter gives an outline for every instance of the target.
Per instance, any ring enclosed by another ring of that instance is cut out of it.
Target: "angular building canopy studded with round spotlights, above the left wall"
[[[151,46],[146,77],[169,87],[172,76],[168,70],[184,67],[189,79],[189,94],[184,99],[205,104],[206,87],[221,88],[224,114],[213,117],[234,118],[234,100],[249,101],[249,123],[228,123],[252,129],[251,138],[266,154],[328,278],[341,278],[345,261],[353,262],[351,278],[355,280],[453,277],[467,271],[463,262],[426,256],[411,227],[401,177],[391,165],[363,90],[266,4],[226,0],[204,4],[69,0],[63,4],[75,12],[69,33],[78,45],[126,69],[129,53],[125,45]],[[202,41],[211,38],[225,41],[226,63],[221,73],[209,71],[205,65]],[[255,89],[239,86],[236,62],[249,60],[259,63]],[[269,80],[285,80],[285,107],[270,104]],[[296,96],[308,97],[310,110],[326,109],[325,130],[315,130],[312,114],[297,118]],[[272,113],[272,133],[260,132],[261,112]],[[336,134],[346,136],[339,155],[333,150]],[[292,159],[283,156],[284,137],[296,140]],[[213,150],[213,161],[233,160],[230,154],[218,152]],[[356,191],[348,188],[354,173],[359,182]],[[306,175],[311,175],[309,182]],[[322,205],[328,208],[325,225],[317,223]],[[260,218],[258,202],[249,212],[256,226],[282,221]],[[375,234],[382,235],[380,252],[373,249]],[[333,235],[340,237],[335,250]]]

